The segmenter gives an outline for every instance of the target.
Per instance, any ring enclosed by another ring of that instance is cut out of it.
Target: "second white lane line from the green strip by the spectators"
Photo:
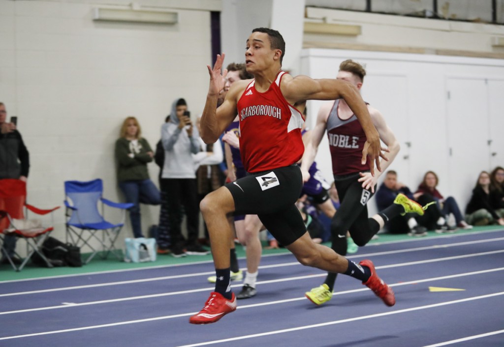
[[[502,241],[502,240],[504,240],[504,237],[494,238],[494,239],[487,239],[487,240],[469,241],[469,242],[457,242],[457,243],[452,243],[452,244],[447,244],[447,245],[434,245],[434,246],[409,248],[409,249],[394,250],[394,251],[385,251],[385,252],[375,252],[375,253],[359,254],[359,255],[347,256],[347,258],[349,258],[349,259],[352,259],[352,258],[362,259],[362,258],[367,258],[367,257],[379,256],[379,255],[409,253],[409,252],[417,252],[417,251],[422,251],[422,250],[435,249],[435,248],[439,248],[439,247],[448,248],[448,247],[473,245],[473,244],[476,244],[476,243],[495,242],[495,241]],[[495,251],[495,252],[503,252],[503,251],[502,250],[498,250],[498,251]],[[476,254],[478,254],[478,253],[476,253]],[[481,254],[485,254],[485,253],[481,253]],[[488,254],[490,254],[490,253],[488,253]],[[462,256],[462,257],[464,257],[464,256]],[[453,257],[452,258],[446,258],[446,260],[452,260],[452,259],[457,259],[457,258],[453,258]],[[433,259],[432,261],[439,261],[439,260]],[[421,263],[421,262],[418,262],[418,263]],[[406,265],[410,265],[410,264],[413,264],[413,263],[405,263],[405,264]],[[259,266],[259,268],[260,269],[265,269],[265,268],[275,268],[275,267],[294,266],[294,265],[301,266],[301,264],[298,261],[293,261],[293,262],[281,263],[281,264],[263,265],[263,266]],[[406,266],[406,265],[402,265],[402,266]],[[393,265],[387,265],[387,266],[388,267],[395,267],[395,266],[401,266],[401,265],[393,264]],[[376,267],[376,268],[387,268],[387,267]],[[246,268],[242,268],[242,270],[246,270]],[[0,298],[1,297],[16,296],[16,295],[27,295],[27,294],[38,294],[38,293],[51,293],[51,292],[69,291],[69,290],[76,290],[76,289],[97,288],[97,287],[106,287],[106,286],[119,286],[119,285],[127,285],[127,284],[135,284],[135,283],[145,283],[145,282],[154,282],[154,281],[165,281],[165,280],[181,279],[181,278],[184,278],[184,277],[193,277],[193,276],[202,276],[202,275],[211,275],[211,274],[215,274],[215,271],[206,271],[206,272],[198,272],[198,273],[187,273],[187,274],[179,274],[179,275],[171,275],[171,276],[161,276],[161,277],[151,277],[151,278],[148,278],[148,279],[141,279],[141,280],[128,280],[128,281],[118,281],[118,282],[106,282],[106,283],[97,283],[97,284],[92,284],[92,285],[82,285],[82,286],[73,286],[73,287],[41,289],[41,290],[27,291],[27,292],[6,293],[6,294],[0,294]]]

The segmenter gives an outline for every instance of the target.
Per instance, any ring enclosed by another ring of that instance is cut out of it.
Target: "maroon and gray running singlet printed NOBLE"
[[[348,175],[369,170],[367,164],[360,163],[366,134],[355,114],[346,120],[339,117],[338,104],[339,100],[336,100],[327,118],[333,174]]]

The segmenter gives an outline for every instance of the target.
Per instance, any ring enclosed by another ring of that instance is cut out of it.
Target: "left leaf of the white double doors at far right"
[[[464,213],[478,174],[489,165],[486,80],[447,80],[449,192]],[[463,174],[460,174],[463,172]]]

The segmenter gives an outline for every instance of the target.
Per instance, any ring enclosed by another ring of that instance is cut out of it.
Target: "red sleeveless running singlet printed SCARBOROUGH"
[[[274,83],[259,93],[250,82],[237,103],[240,154],[245,170],[260,172],[289,166],[301,159],[303,116],[280,91],[280,71]]]

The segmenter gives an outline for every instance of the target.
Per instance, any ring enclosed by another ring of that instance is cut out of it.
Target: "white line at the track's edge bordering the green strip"
[[[462,234],[449,234],[449,235],[443,235],[443,236],[428,236],[425,238],[414,238],[414,239],[408,239],[408,240],[398,240],[398,241],[385,241],[385,242],[373,242],[369,243],[366,245],[366,247],[371,247],[371,246],[383,246],[387,244],[397,244],[397,243],[403,243],[403,242],[412,242],[412,241],[425,241],[425,240],[432,240],[434,238],[437,239],[447,239],[447,238],[453,238],[453,237],[464,237],[468,235],[482,235],[482,234],[488,234],[488,233],[495,233],[495,232],[502,232],[504,231],[503,229],[495,229],[495,230],[480,230],[480,231],[473,231],[473,232],[466,232]],[[466,244],[473,244],[473,243],[480,243],[480,242],[487,242],[487,241],[494,241],[494,240],[500,240],[502,238],[496,238],[496,239],[491,239],[491,240],[478,240],[478,241],[470,241],[470,242],[465,242]],[[462,244],[462,243],[460,243]],[[458,244],[454,244],[458,245]],[[444,245],[439,245],[439,246],[432,246],[432,247],[445,247]],[[419,249],[425,248],[428,249],[429,247],[419,247]],[[269,258],[269,257],[274,257],[274,256],[282,256],[282,255],[288,255],[291,254],[290,252],[284,252],[284,253],[274,253],[274,254],[265,254],[262,257],[263,258]],[[374,253],[370,253],[374,254]],[[378,253],[376,253],[378,254]],[[365,254],[363,254],[365,256]],[[347,258],[353,258],[357,256],[347,256]],[[244,259],[244,257],[240,257],[239,259]],[[212,263],[212,260],[203,260],[203,261],[194,261],[194,262],[187,262],[187,263],[181,263],[181,264],[166,264],[166,265],[153,265],[153,266],[145,266],[145,267],[136,267],[136,268],[127,268],[127,269],[116,269],[116,270],[105,270],[105,271],[94,271],[94,272],[84,272],[84,273],[72,273],[72,274],[64,274],[64,275],[57,275],[57,276],[46,276],[46,277],[37,277],[34,279],[21,279],[21,280],[9,280],[9,281],[0,281],[0,285],[4,283],[15,283],[15,282],[27,282],[27,281],[40,281],[40,280],[50,280],[50,279],[61,279],[61,278],[66,278],[66,277],[79,277],[79,276],[90,276],[90,275],[97,275],[97,274],[105,274],[105,273],[121,273],[121,272],[130,272],[130,271],[139,271],[139,270],[149,270],[149,269],[158,269],[158,268],[170,268],[170,267],[177,267],[177,266],[187,266],[187,265],[195,265],[195,264],[207,264],[207,263]],[[297,264],[297,263],[293,263]],[[260,267],[261,268],[261,267]]]

